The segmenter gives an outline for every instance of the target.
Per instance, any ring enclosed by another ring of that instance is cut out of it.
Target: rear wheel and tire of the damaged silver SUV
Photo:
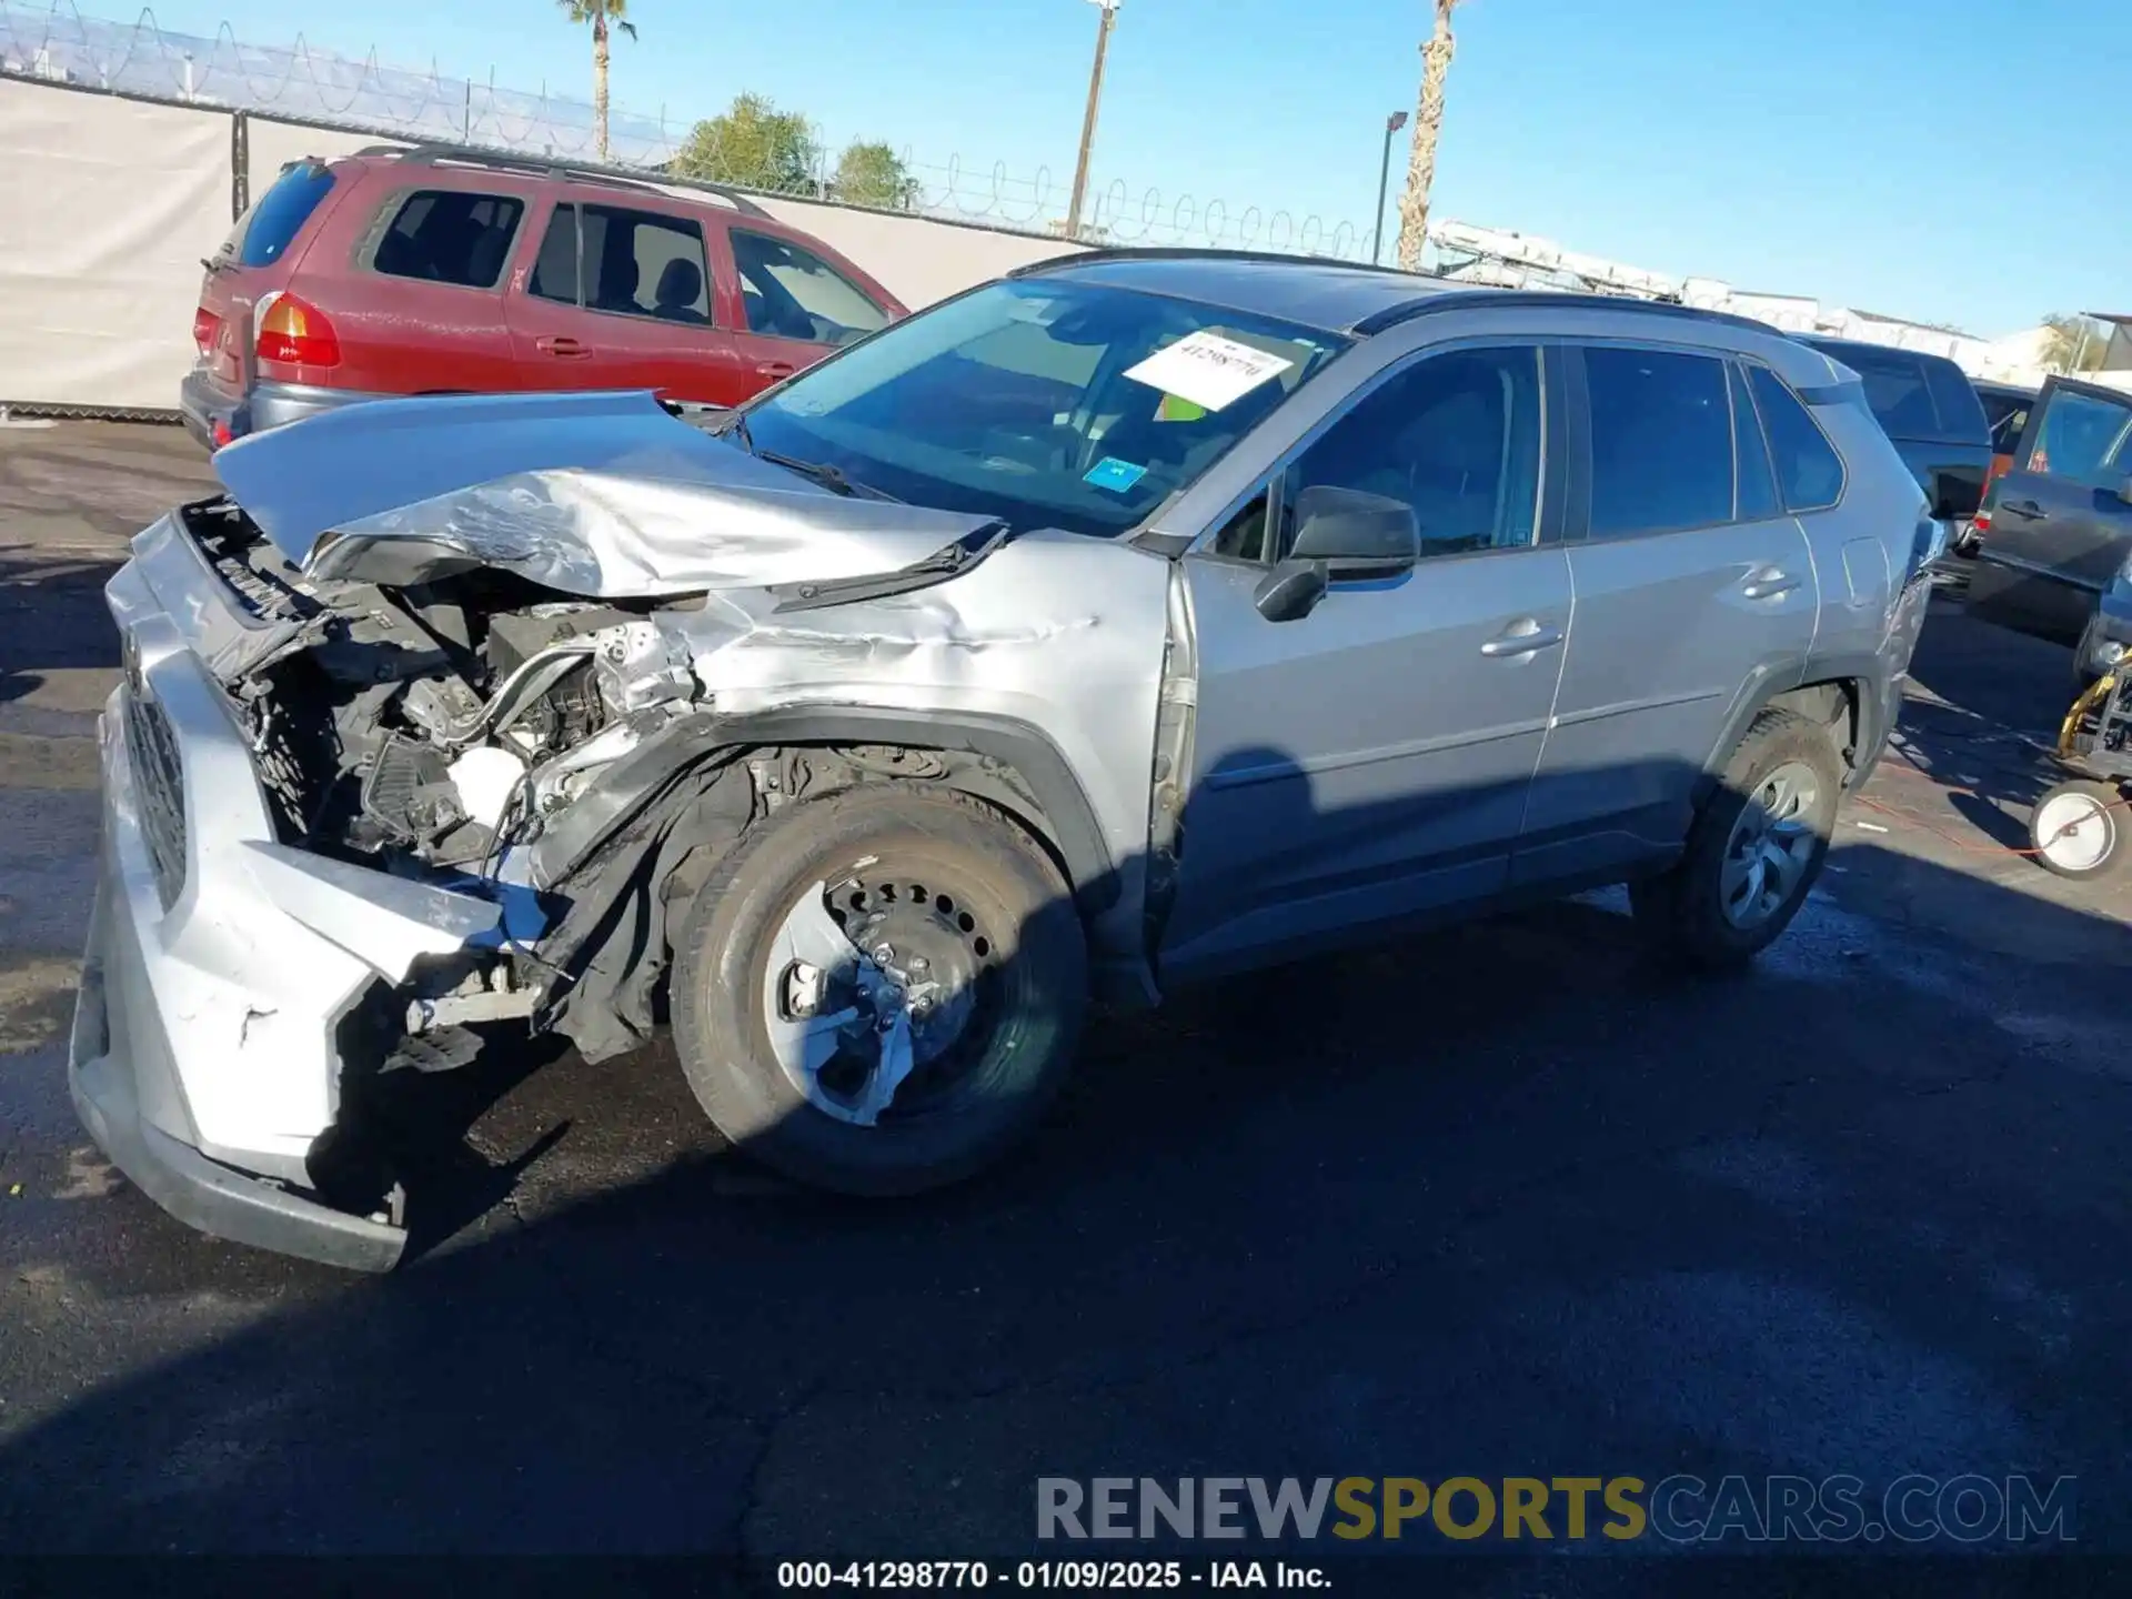
[[[1761,712],[1689,827],[1671,872],[1629,887],[1652,949],[1701,970],[1735,970],[1799,912],[1836,829],[1842,759],[1789,710]]]

